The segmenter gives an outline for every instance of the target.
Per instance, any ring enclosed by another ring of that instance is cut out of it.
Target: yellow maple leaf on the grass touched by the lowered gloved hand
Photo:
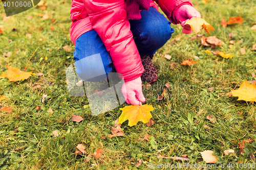
[[[139,121],[146,124],[152,117],[150,111],[155,110],[152,105],[131,105],[124,108],[120,108],[122,114],[119,117],[118,124],[122,124],[125,120],[129,120],[128,126],[134,126]]]

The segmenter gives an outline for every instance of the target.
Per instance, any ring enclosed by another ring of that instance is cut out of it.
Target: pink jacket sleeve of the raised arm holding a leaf
[[[174,24],[179,23],[175,19],[175,13],[179,7],[185,4],[194,7],[190,0],[155,0],[155,2],[159,5],[169,20]]]

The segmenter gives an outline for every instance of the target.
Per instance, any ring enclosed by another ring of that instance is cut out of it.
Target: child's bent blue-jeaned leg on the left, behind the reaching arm
[[[112,71],[110,54],[94,30],[76,40],[74,59],[76,74],[83,81],[101,81]]]

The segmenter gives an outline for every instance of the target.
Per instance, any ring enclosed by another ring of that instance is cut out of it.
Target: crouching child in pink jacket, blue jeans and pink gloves
[[[158,6],[169,21],[158,11]],[[75,44],[76,73],[83,81],[100,81],[108,72],[122,74],[122,93],[128,104],[145,102],[144,81],[157,80],[151,60],[174,29],[201,17],[190,0],[72,0],[70,28]],[[183,27],[183,33],[191,33]],[[113,67],[114,66],[114,67]]]

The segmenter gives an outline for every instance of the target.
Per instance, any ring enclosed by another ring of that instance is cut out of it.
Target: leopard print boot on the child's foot
[[[157,80],[157,70],[152,64],[153,55],[140,56],[145,71],[142,73],[142,80],[153,83]]]

